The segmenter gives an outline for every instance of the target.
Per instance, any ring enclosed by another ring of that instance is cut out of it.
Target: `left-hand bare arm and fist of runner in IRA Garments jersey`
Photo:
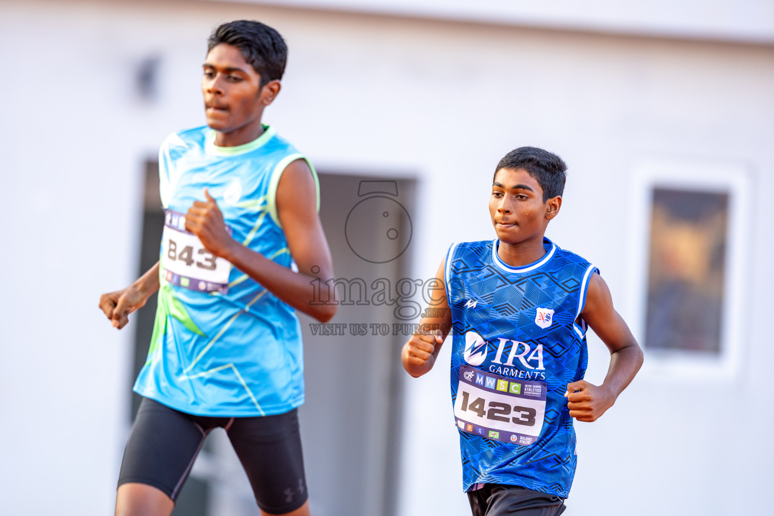
[[[446,299],[446,280],[444,279],[444,264],[440,262],[436,272],[436,289],[431,294],[433,308],[437,308],[438,317],[423,317],[420,326],[403,345],[400,360],[403,368],[414,378],[419,378],[430,371],[435,364],[440,347],[451,330],[451,310]]]

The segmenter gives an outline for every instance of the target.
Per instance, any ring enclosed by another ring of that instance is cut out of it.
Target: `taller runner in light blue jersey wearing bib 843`
[[[262,23],[214,30],[203,65],[207,126],[173,133],[159,152],[159,263],[101,296],[100,308],[122,328],[159,292],[117,515],[169,516],[217,427],[231,439],[261,514],[309,514],[296,309],[327,322],[336,306],[313,302],[313,284],[333,278],[317,174],[261,121],[279,94],[286,56],[282,36]]]

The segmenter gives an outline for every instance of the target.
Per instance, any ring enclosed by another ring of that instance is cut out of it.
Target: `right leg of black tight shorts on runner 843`
[[[228,438],[262,511],[285,514],[307,501],[296,409],[285,414],[235,418],[228,428]]]

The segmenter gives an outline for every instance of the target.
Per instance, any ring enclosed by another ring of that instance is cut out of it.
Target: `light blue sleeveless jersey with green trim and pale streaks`
[[[283,170],[296,159],[307,158],[268,126],[258,139],[238,147],[217,147],[206,126],[173,133],[159,151],[166,225],[195,200],[205,200],[206,187],[236,241],[291,267],[276,190]],[[161,252],[170,251],[162,245]],[[159,279],[156,324],[135,392],[209,416],[281,414],[303,403],[303,345],[293,308],[234,267],[228,285],[213,292],[201,292],[197,282],[163,267]]]

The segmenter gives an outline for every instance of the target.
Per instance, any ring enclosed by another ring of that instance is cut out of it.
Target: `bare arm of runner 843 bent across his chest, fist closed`
[[[317,217],[317,187],[303,159],[290,163],[279,179],[276,203],[290,255],[298,265],[293,272],[246,248],[224,230],[223,214],[204,190],[206,201],[196,201],[186,214],[186,229],[199,237],[207,251],[225,258],[279,299],[325,323],[336,314],[336,305],[312,304],[314,279],[333,278],[330,251],[320,217]]]

